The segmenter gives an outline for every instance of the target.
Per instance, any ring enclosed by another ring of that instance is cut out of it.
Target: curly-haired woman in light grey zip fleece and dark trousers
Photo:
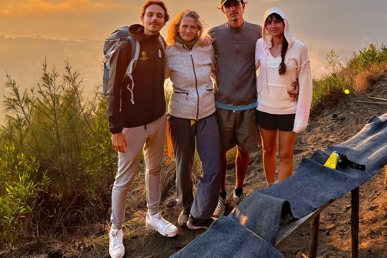
[[[220,135],[215,114],[211,74],[215,55],[204,41],[204,22],[190,10],[182,11],[169,25],[166,77],[173,83],[168,107],[169,132],[176,157],[177,203],[183,206],[180,226],[207,229],[218,204],[220,190]],[[203,164],[195,199],[193,157],[195,146]]]

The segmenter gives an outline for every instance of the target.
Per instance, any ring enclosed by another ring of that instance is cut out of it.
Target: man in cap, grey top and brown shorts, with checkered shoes
[[[227,22],[209,31],[218,66],[215,101],[222,148],[221,192],[214,217],[224,214],[228,201],[227,151],[237,146],[233,199],[239,204],[246,199],[243,181],[250,153],[262,149],[260,133],[255,123],[257,94],[254,63],[255,43],[262,37],[262,27],[243,20],[245,4],[244,0],[221,0],[221,7],[218,9],[226,15]],[[294,97],[292,93],[289,94]]]

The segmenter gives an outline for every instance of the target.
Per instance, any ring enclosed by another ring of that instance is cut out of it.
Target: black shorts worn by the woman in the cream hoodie
[[[279,130],[283,132],[293,131],[294,118],[296,114],[269,114],[259,110],[255,110],[256,124],[265,130]]]

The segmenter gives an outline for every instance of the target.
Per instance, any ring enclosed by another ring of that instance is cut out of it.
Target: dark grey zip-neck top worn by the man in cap
[[[256,103],[254,53],[262,27],[246,21],[239,27],[225,23],[212,28],[209,34],[218,66],[215,100],[233,107]]]

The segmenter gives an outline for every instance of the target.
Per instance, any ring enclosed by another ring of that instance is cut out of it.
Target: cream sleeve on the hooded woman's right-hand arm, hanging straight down
[[[303,42],[300,43],[302,45],[300,47],[297,68],[300,91],[293,127],[293,132],[295,133],[302,133],[305,130],[308,124],[310,105],[312,102],[312,73],[310,70],[309,54],[306,45]]]

